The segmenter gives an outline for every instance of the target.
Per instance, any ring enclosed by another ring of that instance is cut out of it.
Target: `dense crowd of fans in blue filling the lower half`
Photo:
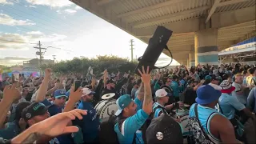
[[[39,78],[4,78],[0,142],[256,142],[255,66],[177,66],[154,73],[142,66],[138,72],[140,77],[105,70],[90,82],[53,78],[50,69]],[[111,93],[118,110],[105,130],[95,106]]]

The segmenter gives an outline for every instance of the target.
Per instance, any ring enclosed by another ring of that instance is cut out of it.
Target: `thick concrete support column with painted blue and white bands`
[[[201,65],[218,66],[218,30],[199,30],[194,34],[194,58],[195,66]]]

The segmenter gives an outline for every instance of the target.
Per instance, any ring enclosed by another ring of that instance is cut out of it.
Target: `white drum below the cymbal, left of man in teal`
[[[94,107],[96,113],[100,120],[103,118],[110,117],[110,115],[114,115],[118,110],[118,105],[116,104],[115,99],[106,99],[98,102],[98,104]]]

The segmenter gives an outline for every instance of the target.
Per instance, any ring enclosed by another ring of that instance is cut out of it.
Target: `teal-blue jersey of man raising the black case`
[[[143,110],[138,110],[133,116],[126,118],[122,122],[121,130],[118,123],[114,125],[114,131],[118,135],[118,141],[120,144],[130,144],[133,142],[134,134],[136,143],[143,144],[142,130],[139,130],[149,115]]]

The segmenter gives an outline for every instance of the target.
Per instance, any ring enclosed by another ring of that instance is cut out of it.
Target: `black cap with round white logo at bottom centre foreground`
[[[146,142],[183,143],[182,129],[178,122],[166,114],[154,118],[146,130]]]

